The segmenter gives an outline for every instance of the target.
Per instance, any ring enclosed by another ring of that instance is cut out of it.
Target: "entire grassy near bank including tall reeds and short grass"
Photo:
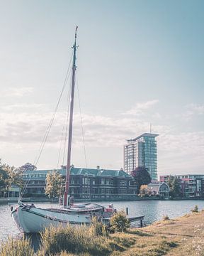
[[[204,211],[174,220],[162,220],[145,228],[107,234],[100,224],[91,228],[51,228],[42,234],[42,245],[33,252],[28,241],[8,240],[1,256],[154,256],[204,255]]]

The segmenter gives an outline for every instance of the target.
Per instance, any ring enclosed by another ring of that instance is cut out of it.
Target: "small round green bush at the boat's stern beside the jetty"
[[[124,232],[130,228],[130,220],[126,218],[125,212],[123,210],[115,213],[110,220],[110,229],[113,233]]]

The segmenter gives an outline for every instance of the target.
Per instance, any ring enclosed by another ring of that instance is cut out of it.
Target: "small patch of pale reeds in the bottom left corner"
[[[0,243],[0,256],[34,256],[34,250],[29,240],[14,240],[8,238]]]

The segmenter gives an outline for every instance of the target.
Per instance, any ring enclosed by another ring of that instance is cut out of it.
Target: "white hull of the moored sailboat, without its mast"
[[[89,211],[84,210],[84,212],[79,209],[79,213],[77,213],[76,208],[74,209],[44,209],[20,204],[12,211],[11,215],[21,232],[39,233],[50,225],[55,227],[60,225],[90,225],[91,218],[94,215],[100,218],[104,211],[102,206]]]

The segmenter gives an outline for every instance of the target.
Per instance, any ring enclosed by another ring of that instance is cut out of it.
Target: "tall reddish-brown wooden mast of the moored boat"
[[[75,73],[76,73],[76,52],[77,52],[77,28],[75,29],[75,40],[74,46],[74,56],[72,64],[72,88],[70,96],[70,108],[69,108],[69,137],[68,137],[68,151],[67,151],[67,170],[66,170],[66,183],[64,191],[64,208],[67,208],[67,196],[69,193],[69,176],[70,176],[70,167],[71,167],[71,149],[72,149],[72,123],[73,123],[73,110],[74,110],[74,86],[75,86]]]

